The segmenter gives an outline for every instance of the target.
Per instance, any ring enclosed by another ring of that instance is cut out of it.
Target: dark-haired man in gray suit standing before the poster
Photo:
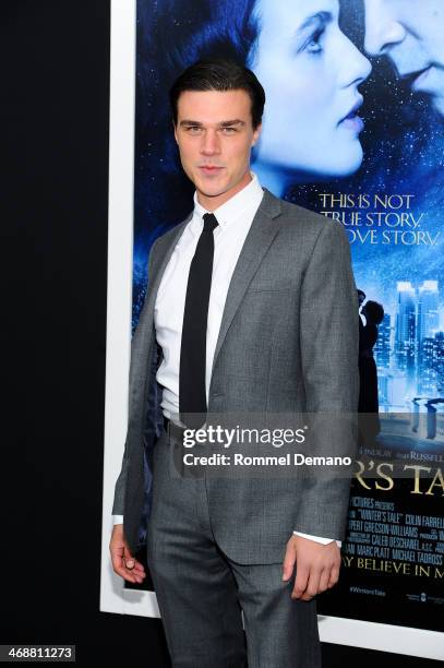
[[[340,224],[278,200],[250,171],[265,102],[252,72],[201,61],[170,99],[194,210],[149,254],[113,570],[141,583],[134,554],[146,541],[175,667],[317,668],[314,597],[338,578],[349,477],[184,475],[177,453],[195,415],[197,426],[216,414],[356,410],[349,244]]]

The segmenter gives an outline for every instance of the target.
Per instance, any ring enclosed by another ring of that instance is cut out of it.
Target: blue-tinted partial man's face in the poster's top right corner
[[[365,50],[386,55],[444,116],[444,0],[364,0]]]

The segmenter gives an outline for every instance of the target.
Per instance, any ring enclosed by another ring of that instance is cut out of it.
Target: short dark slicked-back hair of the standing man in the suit
[[[265,91],[255,74],[235,60],[197,60],[178,76],[169,92],[175,126],[178,122],[179,97],[185,91],[245,91],[251,100],[253,129],[261,124]]]

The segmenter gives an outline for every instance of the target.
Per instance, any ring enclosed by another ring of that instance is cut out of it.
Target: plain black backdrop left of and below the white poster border
[[[0,643],[76,644],[80,665],[127,659],[163,668],[159,620],[98,610],[109,5],[0,5],[2,453],[12,455],[1,467]],[[437,665],[336,645],[323,651],[324,668]]]

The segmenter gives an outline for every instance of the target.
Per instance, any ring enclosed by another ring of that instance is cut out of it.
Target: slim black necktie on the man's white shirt
[[[188,276],[180,346],[179,411],[191,429],[205,422],[206,416],[206,324],[212,286],[216,216],[204,214],[204,228],[197,241]]]

